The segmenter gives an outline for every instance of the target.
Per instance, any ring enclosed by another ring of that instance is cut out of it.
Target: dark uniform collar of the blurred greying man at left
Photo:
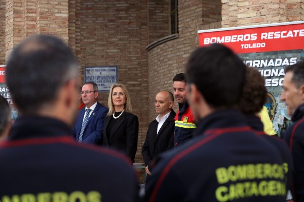
[[[62,136],[69,133],[69,127],[58,119],[23,115],[18,117],[13,124],[9,139]]]

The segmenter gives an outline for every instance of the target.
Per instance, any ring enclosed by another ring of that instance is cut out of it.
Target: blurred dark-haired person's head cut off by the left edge
[[[12,122],[9,103],[0,95],[0,142],[7,139]]]

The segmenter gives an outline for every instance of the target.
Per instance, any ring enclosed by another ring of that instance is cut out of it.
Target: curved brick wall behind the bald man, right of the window
[[[179,37],[149,51],[149,122],[155,119],[154,99],[160,90],[172,90],[172,78],[183,72],[189,54],[198,46],[197,31],[213,23],[219,28],[220,1],[178,1]],[[177,110],[177,103],[175,103]]]

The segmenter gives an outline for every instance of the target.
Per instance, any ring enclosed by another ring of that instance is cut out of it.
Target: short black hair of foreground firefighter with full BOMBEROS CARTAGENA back
[[[196,85],[211,107],[235,107],[242,94],[245,65],[231,49],[215,43],[191,54],[186,80]]]

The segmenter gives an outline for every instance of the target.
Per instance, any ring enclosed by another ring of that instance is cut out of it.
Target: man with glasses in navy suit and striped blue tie
[[[78,113],[72,127],[72,136],[79,142],[102,145],[103,124],[108,109],[97,101],[98,86],[96,83],[85,83],[81,95],[86,107]]]

